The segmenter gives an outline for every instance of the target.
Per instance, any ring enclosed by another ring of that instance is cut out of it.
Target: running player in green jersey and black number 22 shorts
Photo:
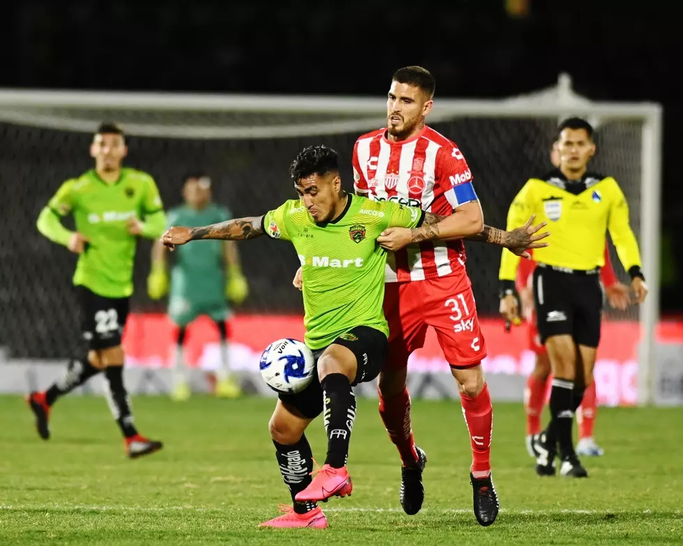
[[[133,263],[138,237],[157,238],[166,217],[151,176],[123,167],[128,153],[123,131],[102,123],[90,153],[95,169],[67,180],[38,217],[38,231],[77,253],[73,284],[81,304],[82,331],[89,352],[72,359],[64,376],[47,391],[27,397],[36,416],[38,434],[49,439],[49,409],[61,396],[93,375],[105,375],[109,408],[125,437],[130,458],[158,451],[162,444],[137,432],[123,385],[121,336],[133,292]],[[76,231],[61,218],[72,214]]]

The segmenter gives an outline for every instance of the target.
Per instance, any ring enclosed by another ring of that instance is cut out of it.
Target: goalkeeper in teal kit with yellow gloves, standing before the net
[[[169,210],[168,227],[208,226],[228,221],[231,213],[211,201],[211,180],[204,173],[185,177],[185,204]],[[148,295],[160,299],[169,291],[167,248],[160,241],[152,248],[152,269],[147,280]],[[171,269],[169,318],[178,327],[173,362],[175,400],[187,400],[190,386],[185,370],[183,343],[187,325],[199,315],[208,315],[220,334],[220,367],[215,381],[217,396],[234,398],[240,395],[236,377],[230,373],[227,320],[229,302],[239,305],[248,295],[247,281],[240,268],[239,253],[234,241],[209,241],[178,248]]]

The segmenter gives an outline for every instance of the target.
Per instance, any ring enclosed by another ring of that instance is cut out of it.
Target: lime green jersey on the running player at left
[[[89,240],[78,258],[73,283],[104,297],[130,296],[137,237],[128,233],[128,221],[162,211],[154,179],[135,169],[121,169],[118,181],[107,184],[91,170],[64,182],[47,206],[59,216],[73,214],[76,230]]]

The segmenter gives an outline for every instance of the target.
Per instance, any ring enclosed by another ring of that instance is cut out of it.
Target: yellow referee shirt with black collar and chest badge
[[[629,225],[629,205],[611,176],[586,173],[567,180],[559,169],[544,178],[530,178],[507,212],[507,229],[523,226],[531,214],[547,221],[548,247],[534,250],[534,261],[572,270],[604,265],[609,230],[622,265],[628,271],[640,263],[640,251]],[[519,256],[503,249],[498,279],[514,281]]]

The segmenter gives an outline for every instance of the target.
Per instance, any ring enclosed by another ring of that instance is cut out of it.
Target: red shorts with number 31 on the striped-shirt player
[[[389,350],[385,369],[408,366],[408,357],[424,345],[427,327],[436,330],[443,356],[452,368],[473,368],[486,357],[472,288],[462,290],[456,275],[387,283],[384,315],[389,322]]]

